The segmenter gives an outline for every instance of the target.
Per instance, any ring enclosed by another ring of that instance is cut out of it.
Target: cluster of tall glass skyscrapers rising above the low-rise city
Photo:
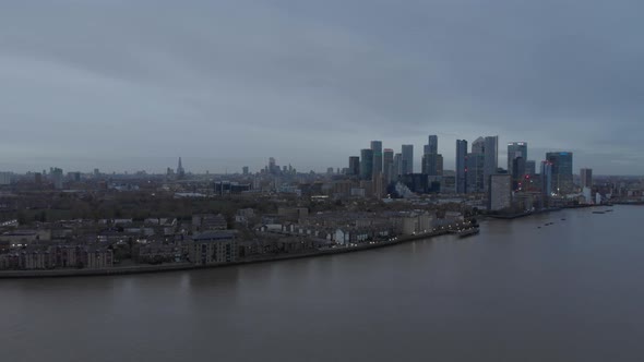
[[[511,192],[559,195],[575,190],[570,152],[547,153],[538,164],[528,159],[527,142],[510,142],[503,169],[499,167],[499,136],[480,136],[472,143],[456,140],[455,171],[444,171],[439,137],[429,135],[427,140],[418,173],[414,169],[414,145],[404,144],[401,152],[395,153],[383,148],[382,141],[371,141],[370,147],[361,149],[359,156],[350,156],[346,173],[361,181],[382,181],[384,185],[399,181],[419,192],[488,193],[494,174],[508,176],[498,180],[509,180]],[[592,170],[582,170],[581,183],[586,188],[592,185]]]

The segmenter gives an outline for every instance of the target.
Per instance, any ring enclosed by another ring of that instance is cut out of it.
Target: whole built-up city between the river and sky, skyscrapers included
[[[319,255],[469,236],[481,218],[644,201],[641,178],[575,174],[572,152],[529,157],[526,142],[511,142],[500,165],[498,136],[457,140],[450,170],[438,145],[429,135],[420,170],[414,145],[371,141],[324,173],[273,157],[227,174],[192,173],[180,157],[164,174],[0,172],[0,269],[129,273]]]

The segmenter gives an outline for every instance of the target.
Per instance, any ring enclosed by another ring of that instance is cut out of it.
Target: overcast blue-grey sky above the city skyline
[[[346,167],[371,140],[644,173],[644,2],[3,0],[0,170]],[[417,166],[418,167],[418,166]]]

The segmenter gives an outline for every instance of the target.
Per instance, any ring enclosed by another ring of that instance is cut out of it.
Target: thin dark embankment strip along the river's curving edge
[[[278,255],[261,255],[253,258],[245,258],[232,263],[220,263],[210,265],[195,265],[191,263],[171,263],[160,265],[133,265],[133,266],[116,266],[104,269],[50,269],[50,270],[2,270],[0,272],[0,279],[15,279],[15,278],[62,278],[62,277],[97,277],[97,276],[116,276],[116,275],[130,275],[130,274],[147,274],[147,273],[167,273],[167,272],[179,272],[179,270],[193,270],[193,269],[210,269],[217,267],[227,267],[245,264],[258,264],[269,262],[279,262],[305,257],[315,257],[345,253],[355,253],[365,250],[380,249],[386,246],[398,245],[405,242],[415,240],[431,239],[440,236],[448,234],[448,231],[437,231],[419,233],[415,236],[398,237],[392,241],[381,241],[373,243],[362,243],[355,246],[339,246],[330,248],[323,250],[315,250],[307,253],[297,254],[278,254]]]

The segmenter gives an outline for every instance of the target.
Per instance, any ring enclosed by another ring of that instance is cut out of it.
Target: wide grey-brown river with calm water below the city
[[[277,263],[0,280],[0,360],[641,361],[644,207],[612,209]]]

